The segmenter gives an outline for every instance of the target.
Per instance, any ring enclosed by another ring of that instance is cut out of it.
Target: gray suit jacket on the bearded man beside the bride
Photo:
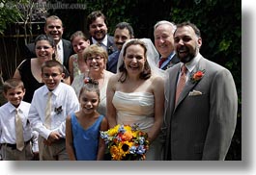
[[[205,70],[205,75],[197,83],[186,82],[175,107],[180,67],[177,63],[166,70],[164,159],[224,160],[237,123],[238,96],[233,77],[226,68],[201,58],[193,72]]]

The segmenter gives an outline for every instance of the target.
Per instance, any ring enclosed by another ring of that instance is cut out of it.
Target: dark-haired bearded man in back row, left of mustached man
[[[87,16],[87,28],[91,35],[90,43],[100,44],[108,53],[112,54],[117,50],[114,45],[114,38],[107,35],[106,17],[100,11],[95,11]]]

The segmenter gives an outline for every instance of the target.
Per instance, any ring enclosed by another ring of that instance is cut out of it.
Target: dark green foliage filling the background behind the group
[[[29,0],[28,0],[29,1]],[[52,0],[50,2],[56,2]],[[5,4],[11,0],[0,0]],[[17,1],[19,4],[25,1]],[[62,1],[71,3],[71,0]],[[203,45],[201,54],[228,68],[235,80],[239,96],[238,117],[242,116],[242,1],[241,0],[77,0],[73,3],[86,4],[83,11],[51,10],[64,23],[65,38],[77,30],[85,28],[86,16],[93,11],[101,11],[107,17],[108,33],[113,35],[115,25],[121,21],[131,24],[135,38],[154,38],[154,25],[159,20],[175,23],[191,21],[201,31]],[[15,4],[16,1],[15,1]],[[22,14],[0,4],[0,34],[9,23],[17,21]],[[84,26],[82,26],[82,24]],[[241,124],[240,124],[241,125]],[[241,127],[238,125],[228,160],[241,160]]]

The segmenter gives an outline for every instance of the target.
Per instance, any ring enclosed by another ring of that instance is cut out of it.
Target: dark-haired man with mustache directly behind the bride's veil
[[[120,51],[124,43],[130,39],[134,38],[133,36],[133,29],[128,22],[120,22],[116,25],[115,34],[114,34],[114,41],[118,48],[117,51],[112,53],[108,56],[108,62],[106,69],[110,72],[117,73],[117,63]]]

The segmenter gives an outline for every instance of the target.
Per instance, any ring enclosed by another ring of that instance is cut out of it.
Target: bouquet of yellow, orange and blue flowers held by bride
[[[100,131],[100,137],[107,145],[107,153],[114,161],[142,161],[149,149],[147,133],[139,130],[138,125],[116,125],[108,131]]]

